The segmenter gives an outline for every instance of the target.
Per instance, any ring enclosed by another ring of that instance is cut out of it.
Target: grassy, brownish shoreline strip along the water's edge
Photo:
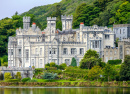
[[[127,87],[130,82],[0,82],[0,87]]]

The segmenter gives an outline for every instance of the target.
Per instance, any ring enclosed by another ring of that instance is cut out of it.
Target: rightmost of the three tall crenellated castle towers
[[[61,15],[61,20],[62,20],[62,31],[72,30],[73,15],[71,16]]]

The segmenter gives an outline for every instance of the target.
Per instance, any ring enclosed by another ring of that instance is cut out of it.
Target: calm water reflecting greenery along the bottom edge
[[[113,87],[1,87],[0,94],[130,94],[130,88]]]

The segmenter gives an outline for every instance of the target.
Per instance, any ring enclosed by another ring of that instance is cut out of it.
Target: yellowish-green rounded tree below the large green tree
[[[91,80],[95,80],[95,79],[98,80],[98,78],[101,75],[101,72],[102,72],[102,69],[100,66],[94,66],[91,70],[89,70],[88,78]]]

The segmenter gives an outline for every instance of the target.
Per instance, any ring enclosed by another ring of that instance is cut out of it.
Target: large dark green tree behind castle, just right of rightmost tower
[[[85,25],[89,26],[90,21],[99,16],[100,8],[87,5],[83,3],[79,5],[74,14],[73,27],[78,28],[80,22],[84,22]]]

